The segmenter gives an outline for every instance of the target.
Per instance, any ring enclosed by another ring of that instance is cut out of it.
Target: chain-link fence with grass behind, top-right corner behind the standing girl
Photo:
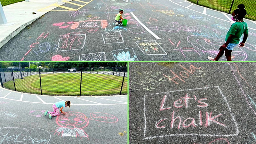
[[[202,5],[214,10],[231,14],[237,5],[244,4],[247,14],[246,19],[256,20],[256,0],[188,0],[194,4]]]

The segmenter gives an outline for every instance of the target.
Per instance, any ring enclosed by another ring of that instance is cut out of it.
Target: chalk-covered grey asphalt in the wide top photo
[[[88,2],[74,0],[46,13],[0,49],[0,60],[208,61],[232,24],[231,15],[185,0]],[[120,8],[125,27],[114,24]],[[256,24],[244,21],[248,40],[235,47],[232,59],[255,61]]]

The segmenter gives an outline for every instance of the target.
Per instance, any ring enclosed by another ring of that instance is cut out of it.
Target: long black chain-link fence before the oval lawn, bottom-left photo
[[[127,67],[0,69],[4,88],[43,95],[127,94]]]

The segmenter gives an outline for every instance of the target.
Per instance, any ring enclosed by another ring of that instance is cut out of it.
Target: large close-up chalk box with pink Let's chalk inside
[[[206,97],[205,93],[210,93],[211,97]],[[158,99],[158,104],[149,99],[152,96]],[[217,108],[218,104],[222,107]],[[223,137],[239,133],[235,117],[219,86],[146,95],[144,117],[143,139],[183,135]],[[191,130],[195,132],[190,133]]]

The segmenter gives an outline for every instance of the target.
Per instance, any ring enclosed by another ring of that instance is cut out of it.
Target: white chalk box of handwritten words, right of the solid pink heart
[[[105,52],[80,54],[78,61],[106,61]]]

